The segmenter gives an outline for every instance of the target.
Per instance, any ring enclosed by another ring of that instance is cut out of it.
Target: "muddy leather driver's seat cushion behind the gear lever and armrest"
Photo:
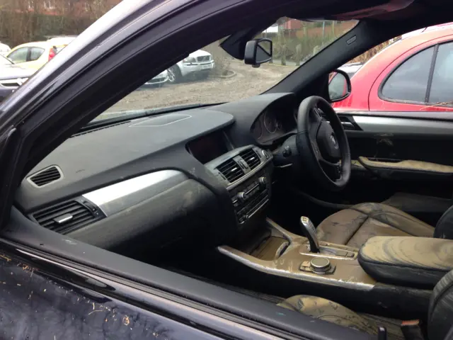
[[[320,241],[360,248],[374,236],[432,237],[434,227],[381,203],[362,203],[340,210],[317,228]]]

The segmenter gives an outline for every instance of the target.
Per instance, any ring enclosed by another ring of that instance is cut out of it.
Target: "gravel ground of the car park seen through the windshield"
[[[205,81],[165,84],[161,88],[139,89],[122,98],[99,118],[118,111],[237,101],[263,93],[291,73],[295,67],[263,64],[259,68],[253,68],[243,62],[234,61],[231,62],[230,69],[236,73],[231,78],[209,78]]]

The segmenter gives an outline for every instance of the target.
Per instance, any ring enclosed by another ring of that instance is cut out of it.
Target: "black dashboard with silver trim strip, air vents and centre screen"
[[[25,176],[14,205],[40,232],[122,254],[192,233],[222,244],[260,222],[266,148],[295,132],[296,111],[293,94],[264,94],[85,130]]]

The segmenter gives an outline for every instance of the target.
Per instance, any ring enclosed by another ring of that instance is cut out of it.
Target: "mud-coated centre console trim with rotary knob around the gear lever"
[[[257,271],[304,282],[353,290],[372,290],[376,284],[357,261],[358,249],[319,242],[315,253],[306,237],[288,232],[273,220],[266,220],[266,225],[267,232],[249,249],[219,246],[219,252]]]

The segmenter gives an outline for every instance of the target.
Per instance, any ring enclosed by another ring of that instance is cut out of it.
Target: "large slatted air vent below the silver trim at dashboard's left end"
[[[67,234],[97,220],[88,207],[76,200],[45,208],[35,212],[33,217],[42,227],[60,234]]]

